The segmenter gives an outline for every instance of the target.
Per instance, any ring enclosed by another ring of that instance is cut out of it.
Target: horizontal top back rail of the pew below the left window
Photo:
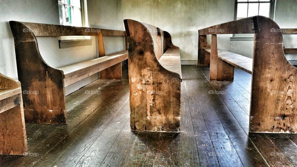
[[[34,32],[35,36],[126,36],[125,31],[110,30],[102,28],[73,27],[55,24],[20,22]],[[27,29],[23,30],[28,31]]]

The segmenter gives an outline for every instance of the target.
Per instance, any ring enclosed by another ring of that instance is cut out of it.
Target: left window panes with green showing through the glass
[[[61,25],[82,26],[80,0],[58,0]]]

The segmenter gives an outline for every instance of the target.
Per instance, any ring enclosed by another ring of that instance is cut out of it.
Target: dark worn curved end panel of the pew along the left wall
[[[19,81],[22,83],[25,121],[66,124],[63,71],[49,66],[43,60],[36,36],[30,27],[17,21],[9,23],[15,40],[15,56]]]

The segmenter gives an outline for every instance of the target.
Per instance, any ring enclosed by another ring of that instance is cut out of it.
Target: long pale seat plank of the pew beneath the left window
[[[65,87],[96,74],[128,58],[128,50],[59,68],[64,72]]]

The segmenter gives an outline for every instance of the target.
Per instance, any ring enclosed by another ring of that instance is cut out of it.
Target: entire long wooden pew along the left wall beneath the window
[[[25,121],[66,124],[65,87],[100,72],[100,79],[121,79],[128,51],[105,55],[102,36],[126,36],[125,31],[10,21],[23,94]],[[60,69],[42,58],[36,36],[97,36],[99,58]]]

